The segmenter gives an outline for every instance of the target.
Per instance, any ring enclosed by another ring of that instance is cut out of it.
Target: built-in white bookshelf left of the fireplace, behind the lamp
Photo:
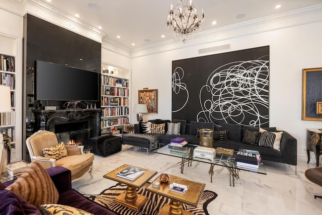
[[[0,84],[9,86],[11,93],[11,112],[0,113],[0,132],[10,142],[11,159],[16,161],[16,70],[15,56],[0,53]],[[0,100],[1,102],[1,100]],[[8,138],[10,137],[10,138]],[[6,154],[7,152],[7,148]],[[6,156],[7,159],[7,156]],[[8,161],[7,161],[8,162]]]

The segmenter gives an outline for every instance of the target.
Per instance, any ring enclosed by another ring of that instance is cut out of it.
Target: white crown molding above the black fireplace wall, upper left
[[[102,37],[105,36],[103,31],[75,19],[40,0],[3,0],[0,8],[21,17],[25,16],[26,13],[31,14],[100,43],[102,43]]]

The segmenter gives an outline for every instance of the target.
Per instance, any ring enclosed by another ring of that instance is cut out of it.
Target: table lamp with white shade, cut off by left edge
[[[0,85],[0,112],[11,111],[10,87]],[[0,132],[0,173],[6,172],[4,136]]]

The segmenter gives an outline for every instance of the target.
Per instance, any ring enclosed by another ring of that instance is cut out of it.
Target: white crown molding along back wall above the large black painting
[[[171,39],[133,48],[130,50],[131,58],[321,21],[322,4],[203,31],[188,43]]]

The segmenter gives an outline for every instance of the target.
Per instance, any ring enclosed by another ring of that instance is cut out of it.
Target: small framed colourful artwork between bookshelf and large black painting
[[[148,113],[157,113],[157,89],[139,90],[138,103],[146,104]]]

